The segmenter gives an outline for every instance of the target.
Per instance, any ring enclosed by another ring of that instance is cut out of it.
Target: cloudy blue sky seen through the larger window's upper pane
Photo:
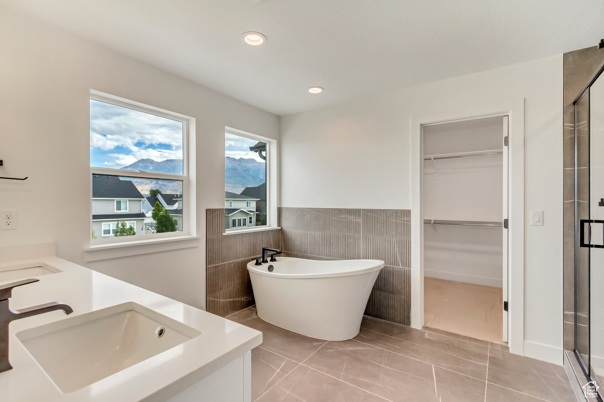
[[[90,166],[182,159],[182,122],[90,99]]]

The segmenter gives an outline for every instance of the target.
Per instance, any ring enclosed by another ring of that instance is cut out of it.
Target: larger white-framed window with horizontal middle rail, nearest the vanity
[[[194,191],[188,192],[194,168],[188,169],[186,152],[190,121],[91,91],[91,245],[195,234],[185,226],[194,204]],[[127,230],[120,230],[122,218]]]

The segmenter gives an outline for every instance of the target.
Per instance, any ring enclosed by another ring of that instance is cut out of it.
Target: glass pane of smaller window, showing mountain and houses
[[[225,133],[226,230],[267,224],[265,142]]]

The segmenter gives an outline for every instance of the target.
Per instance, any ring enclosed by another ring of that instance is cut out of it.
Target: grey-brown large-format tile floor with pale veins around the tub
[[[254,307],[227,318],[263,333],[252,350],[252,401],[575,401],[563,366],[493,342],[367,316],[349,341],[284,330]]]

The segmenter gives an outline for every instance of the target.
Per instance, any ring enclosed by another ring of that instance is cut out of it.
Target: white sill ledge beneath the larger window
[[[133,240],[130,242],[104,243],[85,247],[86,261],[106,260],[158,251],[198,247],[201,236],[176,236],[162,239]]]

